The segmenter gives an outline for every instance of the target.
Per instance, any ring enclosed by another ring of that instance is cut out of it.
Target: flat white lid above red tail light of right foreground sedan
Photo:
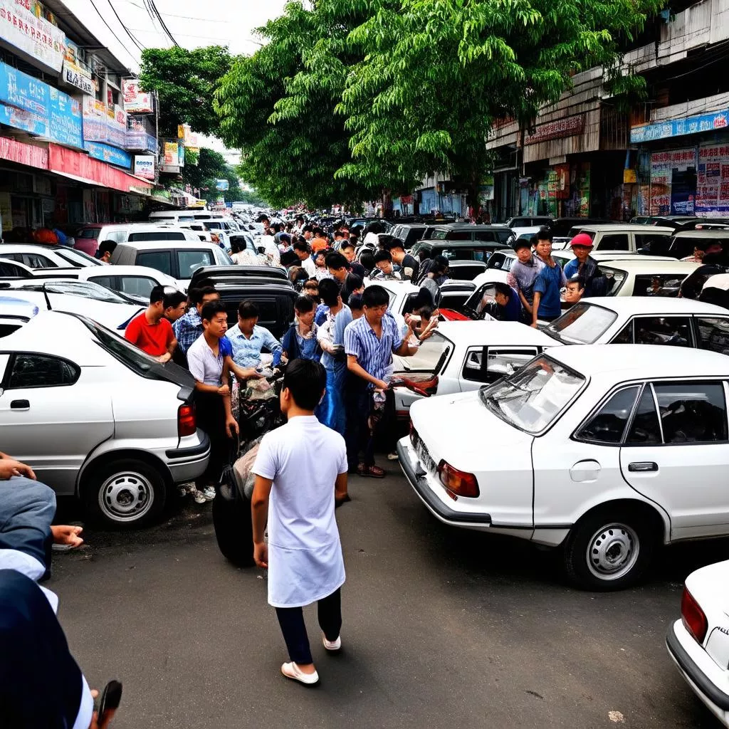
[[[445,459],[471,472],[483,469],[487,451],[529,457],[534,440],[496,417],[478,391],[420,399],[410,406],[410,419],[436,463]]]

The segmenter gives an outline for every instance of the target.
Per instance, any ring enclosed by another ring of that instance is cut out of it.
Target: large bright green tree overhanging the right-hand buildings
[[[529,124],[577,71],[601,65],[616,82],[618,40],[631,38],[660,4],[402,0],[380,7],[348,38],[364,60],[351,69],[338,106],[353,157],[338,176],[406,182],[445,171],[475,203],[494,122]]]

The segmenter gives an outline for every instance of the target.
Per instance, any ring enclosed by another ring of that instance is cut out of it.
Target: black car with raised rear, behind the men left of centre
[[[299,296],[283,268],[274,266],[225,266],[199,268],[190,286],[215,286],[227,310],[228,325],[238,324],[238,305],[252,301],[258,307],[260,326],[280,339],[294,321],[294,302]]]

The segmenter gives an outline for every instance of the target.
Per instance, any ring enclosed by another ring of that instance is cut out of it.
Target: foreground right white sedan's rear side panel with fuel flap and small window
[[[620,441],[639,390],[635,384],[620,386],[577,429],[568,411],[547,434],[534,438],[535,529],[571,526],[593,506],[624,494]]]

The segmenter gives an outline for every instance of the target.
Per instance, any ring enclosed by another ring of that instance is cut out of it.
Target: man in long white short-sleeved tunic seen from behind
[[[263,437],[253,466],[254,559],[268,567],[268,604],[276,608],[290,663],[286,678],[319,681],[302,607],[318,603],[324,648],[342,646],[340,588],[344,560],[335,507],[348,501],[343,437],[321,425],[314,408],[324,396],[324,367],[309,359],[289,364],[281,389],[288,423]],[[263,539],[268,515],[268,544]]]

